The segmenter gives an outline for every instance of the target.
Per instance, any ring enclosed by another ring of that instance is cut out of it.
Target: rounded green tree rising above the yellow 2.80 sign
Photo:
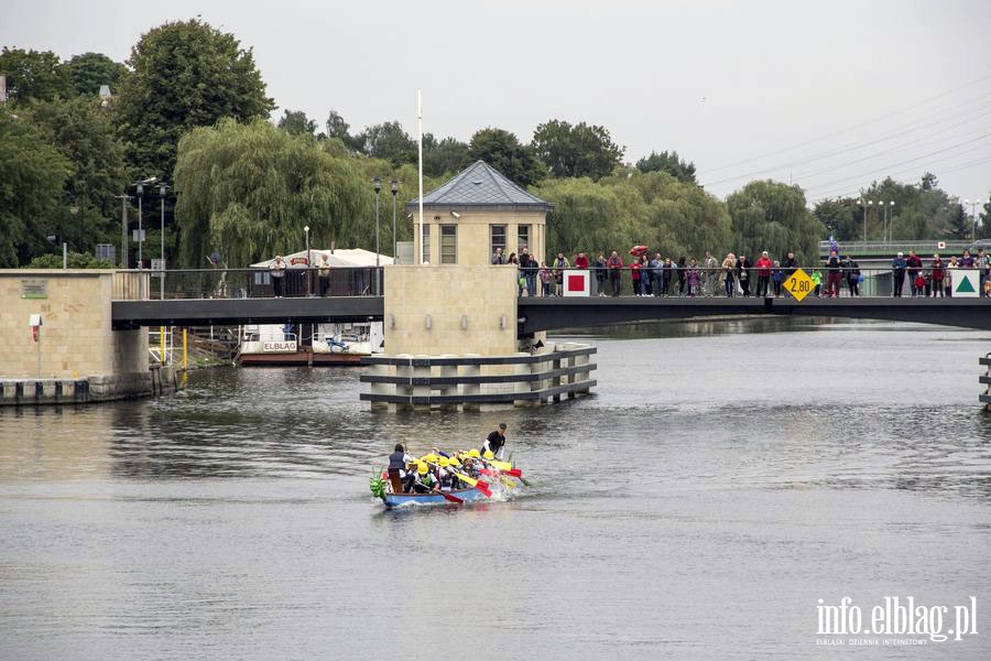
[[[805,194],[798,186],[750,182],[727,197],[726,204],[738,253],[755,259],[766,250],[777,259],[791,250],[801,263],[817,260],[817,242],[825,238],[825,228],[805,207]]]

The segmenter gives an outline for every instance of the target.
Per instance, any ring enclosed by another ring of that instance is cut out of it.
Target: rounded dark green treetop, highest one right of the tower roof
[[[624,149],[612,141],[609,130],[579,122],[571,126],[552,119],[540,124],[531,147],[553,176],[587,176],[598,180],[612,174]]]

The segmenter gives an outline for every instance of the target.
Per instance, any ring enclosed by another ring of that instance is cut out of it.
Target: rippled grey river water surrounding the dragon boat
[[[987,333],[591,339],[596,394],[542,409],[371,413],[356,369],[221,369],[0,411],[0,658],[991,658]],[[371,499],[396,440],[467,448],[500,421],[523,494]],[[889,596],[947,606],[944,632],[974,596],[978,635],[818,633],[818,599],[869,628]],[[850,649],[906,638],[925,649]]]

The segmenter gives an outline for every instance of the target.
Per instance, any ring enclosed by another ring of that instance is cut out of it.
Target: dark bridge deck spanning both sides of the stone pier
[[[115,329],[142,326],[381,321],[383,296],[113,301]],[[801,315],[914,322],[991,330],[987,299],[520,297],[519,333],[728,315]]]

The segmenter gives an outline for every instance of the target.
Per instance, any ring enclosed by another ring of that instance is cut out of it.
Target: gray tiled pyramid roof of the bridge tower
[[[417,208],[417,201],[414,197],[407,202],[406,209]],[[531,195],[484,161],[476,161],[439,188],[424,195],[423,206],[531,212],[549,212],[554,208],[549,202]]]

